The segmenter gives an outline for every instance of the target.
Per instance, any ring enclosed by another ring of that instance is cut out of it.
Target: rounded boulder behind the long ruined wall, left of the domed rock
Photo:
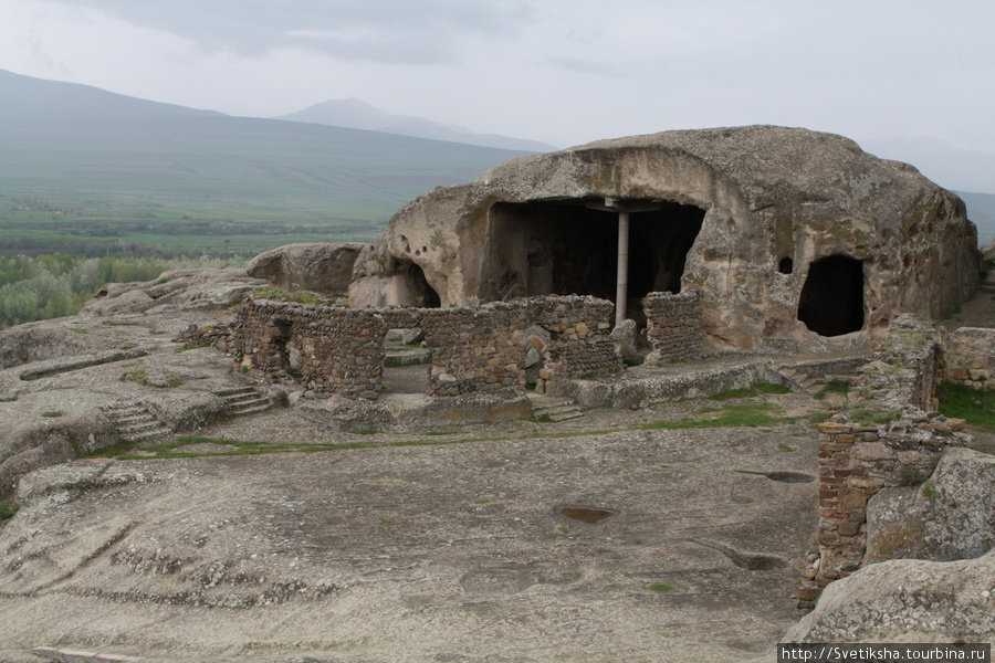
[[[353,264],[364,246],[362,243],[286,244],[253,257],[247,272],[281,287],[346,293],[353,277]]]

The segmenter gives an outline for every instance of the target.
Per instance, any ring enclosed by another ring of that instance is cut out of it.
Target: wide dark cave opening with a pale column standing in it
[[[604,199],[499,202],[490,210],[482,296],[578,294],[616,301],[619,213]],[[640,320],[651,292],[679,293],[704,210],[666,200],[619,200],[629,212],[626,317]],[[649,208],[649,209],[647,209]]]

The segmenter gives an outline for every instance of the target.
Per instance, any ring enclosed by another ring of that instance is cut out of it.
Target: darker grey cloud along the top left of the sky
[[[525,2],[467,0],[56,0],[190,39],[207,50],[262,55],[301,46],[348,60],[436,64],[462,35],[514,35]]]

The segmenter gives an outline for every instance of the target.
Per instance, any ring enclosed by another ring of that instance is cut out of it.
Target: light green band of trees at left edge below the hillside
[[[226,266],[198,259],[0,256],[0,328],[75,315],[107,283],[151,281],[169,270]]]

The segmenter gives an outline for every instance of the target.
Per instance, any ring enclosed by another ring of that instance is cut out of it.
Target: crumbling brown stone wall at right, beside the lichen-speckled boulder
[[[963,420],[933,410],[938,338],[930,325],[897,318],[874,359],[860,369],[846,409],[819,427],[818,586],[862,564],[867,501],[874,493],[923,482],[946,445],[970,440],[957,432]]]

